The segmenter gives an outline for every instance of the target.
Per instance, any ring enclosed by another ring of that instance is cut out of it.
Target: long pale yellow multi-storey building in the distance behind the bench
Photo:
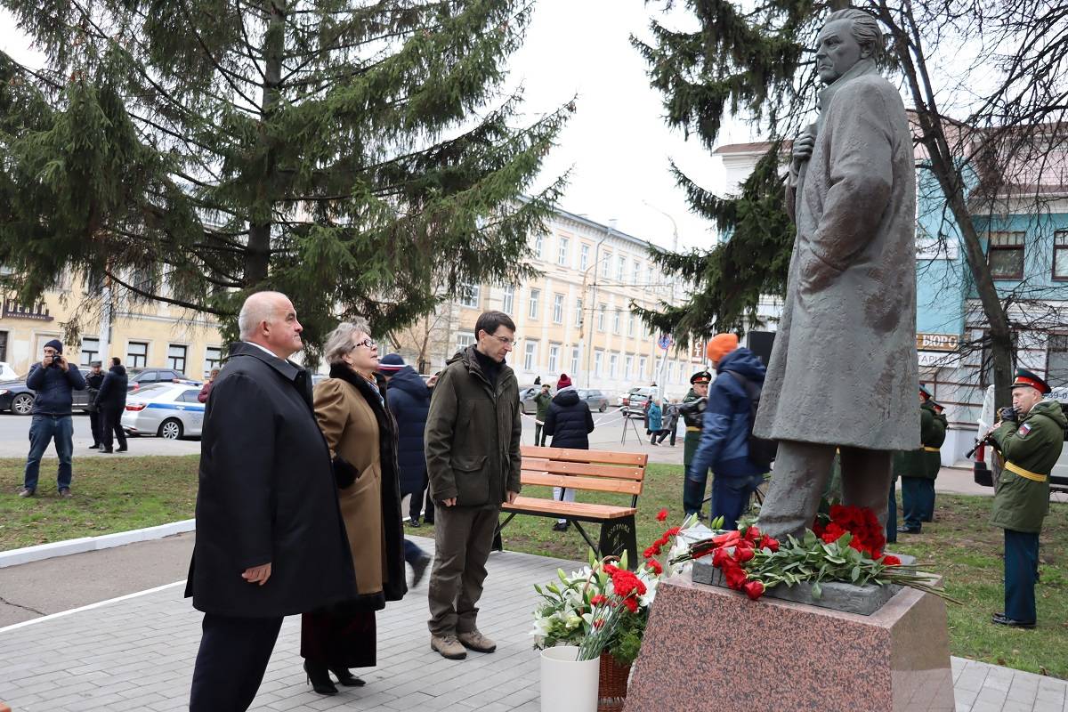
[[[434,332],[423,349],[424,367],[443,367],[458,348],[474,343],[478,315],[499,310],[516,322],[508,363],[521,385],[538,377],[554,384],[567,374],[575,385],[609,395],[657,382],[668,397],[681,397],[703,360],[674,346],[660,348],[660,335],[630,312],[632,302],[654,307],[685,296],[682,285],[671,284],[649,260],[649,243],[564,210],[547,221],[547,228],[529,237],[531,264],[540,276],[516,285],[470,286],[431,317],[434,328],[424,329]],[[402,355],[418,366],[420,349],[403,335],[398,341]]]

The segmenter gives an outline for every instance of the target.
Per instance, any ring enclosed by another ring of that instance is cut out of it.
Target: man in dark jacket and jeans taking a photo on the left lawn
[[[44,359],[33,364],[26,378],[26,386],[34,392],[33,421],[30,423],[30,455],[26,460],[26,474],[19,496],[29,497],[37,490],[41,457],[48,443],[56,440],[56,455],[60,458],[56,484],[62,497],[70,496],[70,458],[74,450],[74,420],[70,406],[75,391],[85,390],[85,379],[78,366],[63,358],[63,344],[59,339],[45,344]]]

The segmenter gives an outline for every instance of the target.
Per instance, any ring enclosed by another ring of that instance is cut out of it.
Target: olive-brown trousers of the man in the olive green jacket
[[[434,570],[427,598],[434,635],[476,630],[486,560],[501,508],[446,507],[439,504],[434,527]]]

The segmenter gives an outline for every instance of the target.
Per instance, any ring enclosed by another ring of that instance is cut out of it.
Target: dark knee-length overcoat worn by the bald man
[[[270,563],[263,586],[241,573]],[[205,613],[289,616],[356,597],[311,377],[239,342],[211,386],[186,596]]]

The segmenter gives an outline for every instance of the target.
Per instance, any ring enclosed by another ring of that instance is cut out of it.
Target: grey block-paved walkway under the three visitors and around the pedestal
[[[498,651],[470,653],[466,661],[430,651],[422,584],[379,614],[379,665],[359,673],[367,686],[342,687],[334,697],[320,697],[305,684],[300,621],[288,618],[252,709],[536,712],[538,659],[528,635],[532,586],[551,580],[560,566],[578,568],[515,552],[490,557],[480,623],[497,639]],[[15,712],[186,709],[201,614],[182,590],[173,584],[0,629],[0,700]],[[960,659],[953,667],[959,712],[1068,712],[1064,680]]]

